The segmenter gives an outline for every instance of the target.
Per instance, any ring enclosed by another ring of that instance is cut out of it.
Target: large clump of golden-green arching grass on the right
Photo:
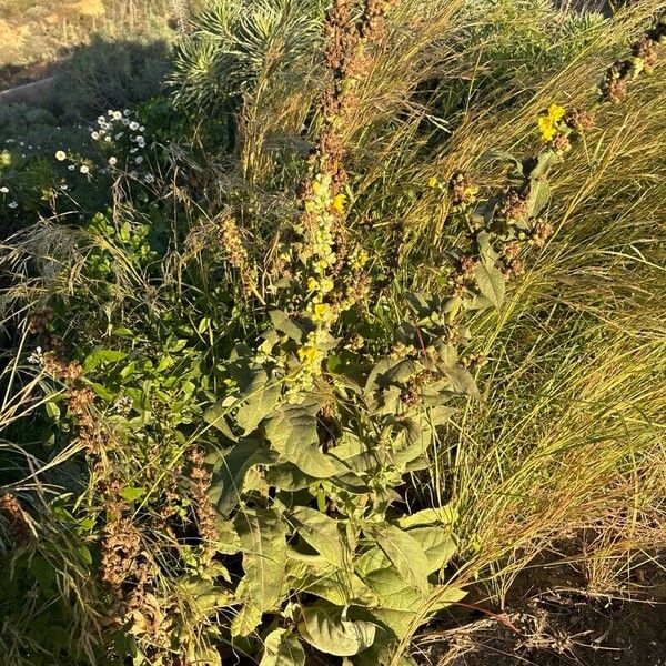
[[[664,90],[655,78],[597,114],[604,142],[588,134],[562,170],[555,240],[475,324],[484,401],[442,440],[432,487],[466,516],[468,563],[495,591],[584,529],[593,588],[604,553],[622,576],[628,553],[664,545]]]

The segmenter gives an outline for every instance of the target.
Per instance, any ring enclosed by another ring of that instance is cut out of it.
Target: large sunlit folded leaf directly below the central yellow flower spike
[[[319,405],[282,405],[265,423],[266,437],[282,457],[315,478],[333,476],[343,467],[319,443]]]

